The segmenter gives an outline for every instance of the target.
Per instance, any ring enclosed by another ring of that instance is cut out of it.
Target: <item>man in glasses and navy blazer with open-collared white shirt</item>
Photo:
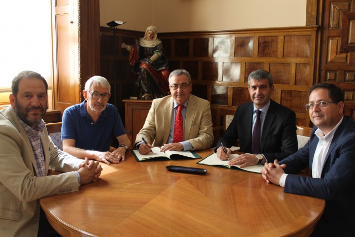
[[[308,143],[279,163],[265,163],[263,178],[285,192],[326,199],[312,236],[353,236],[355,225],[355,122],[344,116],[340,88],[319,83],[309,90],[315,125]],[[312,177],[294,175],[306,166]]]

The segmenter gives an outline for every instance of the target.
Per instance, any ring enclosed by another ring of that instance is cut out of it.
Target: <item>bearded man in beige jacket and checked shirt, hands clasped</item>
[[[12,81],[11,106],[0,111],[0,236],[48,235],[39,198],[78,191],[102,171],[98,161],[83,162],[50,140],[42,119],[47,89],[40,74],[21,72]],[[47,176],[49,169],[63,173]]]

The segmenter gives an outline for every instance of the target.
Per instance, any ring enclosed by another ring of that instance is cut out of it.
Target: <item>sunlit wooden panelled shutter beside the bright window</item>
[[[54,108],[79,103],[78,0],[52,0]]]

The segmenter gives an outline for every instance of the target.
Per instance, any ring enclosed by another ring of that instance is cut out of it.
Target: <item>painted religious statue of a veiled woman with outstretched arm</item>
[[[138,98],[154,99],[169,94],[168,60],[157,35],[157,28],[151,25],[146,29],[144,38],[137,39],[134,45],[121,45],[129,52],[132,71],[138,74]]]

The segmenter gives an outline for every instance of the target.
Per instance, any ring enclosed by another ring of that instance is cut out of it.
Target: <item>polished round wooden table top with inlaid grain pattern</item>
[[[129,152],[119,164],[101,163],[97,182],[41,198],[41,206],[63,236],[308,236],[323,213],[323,199],[200,160],[136,162]],[[173,173],[167,165],[207,173]]]

